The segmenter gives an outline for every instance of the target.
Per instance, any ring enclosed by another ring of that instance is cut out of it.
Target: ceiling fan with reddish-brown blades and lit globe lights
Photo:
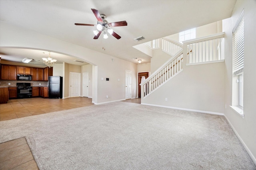
[[[106,15],[105,14],[100,14],[98,10],[95,10],[93,8],[91,8],[93,14],[96,16],[97,18],[97,30],[93,31],[95,36],[93,39],[98,39],[98,37],[100,36],[101,32],[103,32],[103,38],[108,38],[108,35],[106,32],[110,33],[111,35],[113,35],[114,37],[116,37],[116,39],[120,39],[120,35],[118,35],[117,33],[115,33],[113,31],[113,29],[111,29],[111,27],[120,27],[120,26],[127,26],[127,22],[126,21],[118,21],[118,22],[111,22],[108,23],[107,20],[105,20]],[[86,24],[86,23],[75,23],[75,25],[85,25],[85,26],[96,26],[94,24]]]

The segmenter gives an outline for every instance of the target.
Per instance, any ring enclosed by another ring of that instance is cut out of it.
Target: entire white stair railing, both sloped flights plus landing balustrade
[[[224,33],[184,41],[184,44],[162,38],[162,51],[168,53],[171,58],[140,84],[141,98],[148,97],[183,71],[184,53],[186,54],[186,66],[224,61],[224,52],[221,51],[224,49],[223,39]]]

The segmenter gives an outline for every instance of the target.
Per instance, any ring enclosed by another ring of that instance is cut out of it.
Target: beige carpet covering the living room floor
[[[224,116],[127,102],[0,122],[26,137],[40,170],[255,170]]]

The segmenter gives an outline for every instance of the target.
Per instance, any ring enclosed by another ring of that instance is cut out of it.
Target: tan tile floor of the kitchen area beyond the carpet
[[[92,99],[85,97],[11,99],[7,104],[0,104],[0,121],[91,105]]]

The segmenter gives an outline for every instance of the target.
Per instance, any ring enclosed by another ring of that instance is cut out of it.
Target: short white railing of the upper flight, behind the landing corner
[[[162,38],[162,51],[171,55],[172,57],[183,48],[183,44],[173,41],[169,38]]]

